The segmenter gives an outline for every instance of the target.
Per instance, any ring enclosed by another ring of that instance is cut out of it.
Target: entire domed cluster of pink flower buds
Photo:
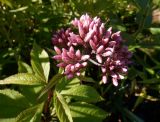
[[[115,86],[118,80],[127,73],[129,59],[132,54],[126,46],[122,46],[120,32],[112,33],[112,28],[105,30],[100,18],[82,15],[75,18],[72,25],[78,30],[61,29],[52,37],[58,67],[64,68],[68,78],[80,76],[81,70],[88,62],[101,67],[102,82],[107,83],[111,77]],[[81,49],[81,50],[80,50]]]

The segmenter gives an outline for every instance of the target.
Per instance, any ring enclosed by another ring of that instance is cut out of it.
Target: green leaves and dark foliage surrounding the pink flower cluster
[[[160,121],[159,7],[160,0],[0,0],[0,122]],[[67,80],[51,59],[52,33],[85,13],[122,31],[133,52],[118,87],[98,84],[96,72]]]

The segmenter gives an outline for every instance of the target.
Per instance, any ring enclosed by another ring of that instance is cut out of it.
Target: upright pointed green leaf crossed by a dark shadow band
[[[34,43],[31,51],[31,65],[36,75],[43,81],[48,82],[50,71],[49,56],[36,43]]]

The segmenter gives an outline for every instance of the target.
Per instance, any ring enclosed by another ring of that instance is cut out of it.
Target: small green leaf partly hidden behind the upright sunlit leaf
[[[25,62],[18,61],[18,72],[20,73],[33,73],[32,68]]]

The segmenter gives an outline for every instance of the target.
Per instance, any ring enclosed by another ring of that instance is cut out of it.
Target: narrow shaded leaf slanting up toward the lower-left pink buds
[[[52,77],[52,79],[49,81],[49,83],[47,84],[47,86],[42,90],[42,92],[40,93],[40,95],[38,96],[38,99],[40,99],[44,94],[46,94],[51,88],[53,88],[53,86],[59,81],[61,80],[61,78],[63,77],[63,74],[56,74]]]

